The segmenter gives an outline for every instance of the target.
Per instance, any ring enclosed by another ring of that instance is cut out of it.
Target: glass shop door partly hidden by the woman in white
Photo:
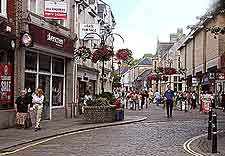
[[[42,119],[50,120],[50,75],[39,75],[39,87],[44,91],[44,108]]]

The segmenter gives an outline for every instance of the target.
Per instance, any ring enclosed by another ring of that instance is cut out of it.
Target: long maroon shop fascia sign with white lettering
[[[73,54],[73,40],[70,38],[33,24],[29,25],[29,31],[32,34],[34,43]]]

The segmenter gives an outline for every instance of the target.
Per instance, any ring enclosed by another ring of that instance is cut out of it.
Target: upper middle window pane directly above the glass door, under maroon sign
[[[51,68],[51,57],[47,55],[39,55],[39,71],[50,72]]]

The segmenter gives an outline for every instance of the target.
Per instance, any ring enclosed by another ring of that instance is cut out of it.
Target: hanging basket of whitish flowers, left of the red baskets
[[[74,57],[78,59],[82,59],[83,61],[91,58],[91,49],[85,46],[79,47],[75,53]]]

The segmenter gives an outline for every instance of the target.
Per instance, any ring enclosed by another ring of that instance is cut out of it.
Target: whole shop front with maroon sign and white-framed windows
[[[65,105],[72,101],[73,41],[33,24],[29,34],[34,44],[24,48],[24,88],[31,92],[43,89],[44,119],[64,117]]]

